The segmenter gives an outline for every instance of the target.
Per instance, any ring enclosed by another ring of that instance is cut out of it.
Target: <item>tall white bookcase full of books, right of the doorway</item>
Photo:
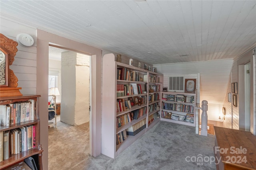
[[[163,75],[103,57],[102,154],[115,158],[160,121]]]

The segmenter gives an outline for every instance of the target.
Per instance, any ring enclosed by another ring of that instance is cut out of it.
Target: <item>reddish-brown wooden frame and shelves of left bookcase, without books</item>
[[[13,97],[3,97],[0,100],[0,105],[8,105],[19,102],[27,102],[28,100],[34,100],[34,119],[29,121],[16,122],[15,124],[10,124],[9,126],[0,126],[0,132],[10,131],[12,129],[17,129],[20,127],[25,127],[28,125],[35,126],[35,136],[34,136],[34,147],[33,147],[33,139],[32,139],[32,149],[28,149],[25,151],[20,151],[18,154],[10,154],[8,159],[0,162],[0,169],[5,169],[14,164],[24,161],[25,158],[30,156],[36,158],[36,166],[39,170],[42,170],[42,152],[43,149],[40,145],[40,118],[39,118],[39,98],[40,95],[24,95],[24,96],[13,96]],[[30,102],[31,104],[32,102]],[[31,113],[31,110],[30,110]],[[30,114],[29,113],[29,114]],[[10,140],[10,139],[9,139]],[[3,151],[6,148],[3,147]],[[9,150],[9,149],[8,149]],[[10,151],[9,151],[10,152]]]

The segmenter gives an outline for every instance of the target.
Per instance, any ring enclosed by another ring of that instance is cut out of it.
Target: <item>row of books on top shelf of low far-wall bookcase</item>
[[[185,102],[185,103],[194,103],[194,96],[185,96],[183,94],[163,94],[162,100],[170,102]]]

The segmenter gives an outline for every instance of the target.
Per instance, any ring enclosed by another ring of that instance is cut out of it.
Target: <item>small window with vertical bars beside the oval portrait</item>
[[[184,76],[169,76],[169,92],[184,92]]]

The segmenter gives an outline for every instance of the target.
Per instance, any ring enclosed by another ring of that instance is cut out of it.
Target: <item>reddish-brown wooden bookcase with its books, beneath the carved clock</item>
[[[40,95],[1,97],[1,170],[29,157],[35,160],[37,169],[42,170],[39,98]]]

